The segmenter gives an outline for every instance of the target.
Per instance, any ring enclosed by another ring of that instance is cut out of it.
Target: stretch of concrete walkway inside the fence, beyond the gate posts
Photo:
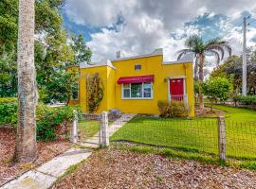
[[[123,113],[121,117],[109,125],[109,137],[111,137],[116,131],[118,131],[123,125],[130,121],[135,115],[135,113]],[[87,139],[86,141],[78,143],[78,145],[99,148],[100,147],[100,133],[97,132],[93,137]]]

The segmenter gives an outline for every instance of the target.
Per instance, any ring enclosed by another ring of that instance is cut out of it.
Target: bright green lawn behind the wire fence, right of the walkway
[[[256,160],[256,112],[215,106],[227,112],[227,155],[229,158]],[[240,113],[240,115],[239,115]],[[178,151],[218,154],[216,118],[163,119],[135,117],[111,137],[111,141],[164,146]]]

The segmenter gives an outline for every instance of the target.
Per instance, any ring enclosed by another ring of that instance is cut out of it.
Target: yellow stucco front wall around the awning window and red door
[[[168,77],[186,77],[188,103],[192,107],[190,116],[194,116],[192,62],[178,64],[162,64],[162,56],[134,60],[119,60],[112,62],[116,71],[116,106],[121,112],[159,114],[157,102],[168,100]],[[135,64],[141,65],[141,70],[135,71]],[[185,69],[186,68],[186,69]],[[154,75],[153,99],[121,99],[121,85],[117,84],[119,77]]]

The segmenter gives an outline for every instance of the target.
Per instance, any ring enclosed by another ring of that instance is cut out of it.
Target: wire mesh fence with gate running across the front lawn
[[[104,124],[103,124],[104,122]],[[105,137],[110,142],[170,148],[180,153],[194,153],[213,158],[256,161],[256,122],[237,122],[223,118],[169,119],[148,115],[80,114],[80,141]],[[98,140],[101,143],[101,140]]]

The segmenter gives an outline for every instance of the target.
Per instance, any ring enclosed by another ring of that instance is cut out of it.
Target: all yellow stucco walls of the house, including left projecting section
[[[192,62],[163,64],[162,56],[153,56],[133,60],[113,61],[116,69],[109,66],[82,68],[80,70],[80,105],[82,112],[86,110],[86,76],[99,73],[104,85],[104,96],[98,112],[117,108],[121,112],[159,114],[157,102],[168,100],[168,77],[185,77],[188,103],[192,108],[190,116],[194,116]],[[135,71],[135,64],[141,65],[141,70]],[[134,77],[154,75],[153,99],[121,99],[119,77]]]

